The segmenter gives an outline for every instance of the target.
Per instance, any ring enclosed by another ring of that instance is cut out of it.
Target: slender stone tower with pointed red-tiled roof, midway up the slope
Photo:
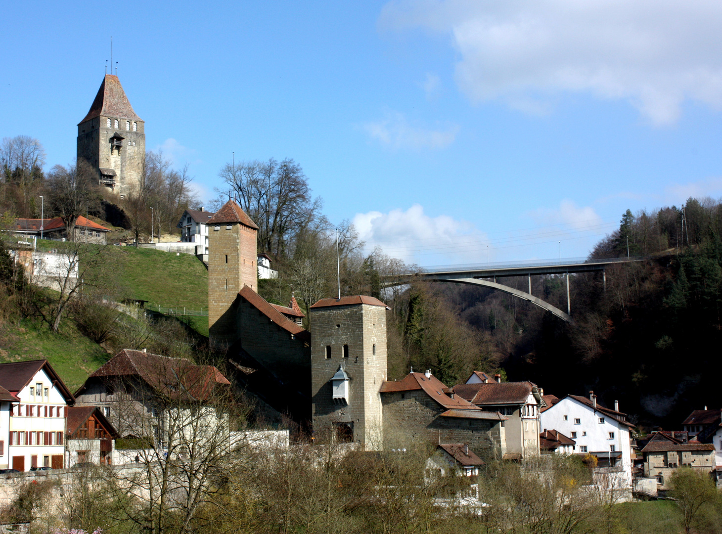
[[[238,338],[235,297],[243,286],[258,289],[258,227],[234,201],[208,219],[208,330],[212,346]]]

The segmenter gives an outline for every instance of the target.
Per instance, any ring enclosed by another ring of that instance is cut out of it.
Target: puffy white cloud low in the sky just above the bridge
[[[428,216],[419,204],[406,211],[356,214],[353,224],[368,251],[380,246],[384,253],[407,263],[429,266],[484,258],[486,237],[473,224],[448,215]]]

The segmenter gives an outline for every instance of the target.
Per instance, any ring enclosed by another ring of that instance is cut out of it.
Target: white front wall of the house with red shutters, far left
[[[9,416],[9,467],[13,467],[14,457],[24,458],[26,471],[30,470],[33,456],[38,466],[51,465],[53,455],[64,458],[66,401],[61,391],[40,369],[17,397],[20,403]],[[50,445],[45,445],[45,432],[50,433]]]

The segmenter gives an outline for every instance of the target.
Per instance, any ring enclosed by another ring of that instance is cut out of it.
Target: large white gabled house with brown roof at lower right
[[[575,452],[596,456],[599,467],[622,467],[625,483],[632,484],[632,445],[630,429],[634,425],[627,415],[596,402],[596,395],[589,398],[567,395],[541,412],[541,428],[554,429],[575,441]]]

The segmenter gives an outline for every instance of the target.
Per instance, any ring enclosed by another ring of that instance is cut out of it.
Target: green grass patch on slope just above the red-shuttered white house
[[[66,321],[57,334],[47,325],[30,320],[6,323],[0,327],[0,347],[3,363],[47,359],[73,392],[110,358],[103,347],[79,333],[71,321]]]

